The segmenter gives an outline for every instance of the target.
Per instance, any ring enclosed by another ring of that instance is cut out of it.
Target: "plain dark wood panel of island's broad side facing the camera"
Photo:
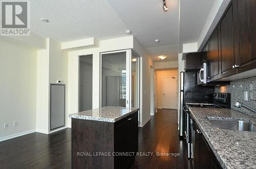
[[[72,118],[72,168],[114,168],[113,156],[95,156],[97,152],[114,152],[114,124]]]

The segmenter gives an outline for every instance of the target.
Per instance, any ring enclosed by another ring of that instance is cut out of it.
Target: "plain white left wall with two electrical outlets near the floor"
[[[0,140],[35,130],[36,55],[35,49],[0,41]]]

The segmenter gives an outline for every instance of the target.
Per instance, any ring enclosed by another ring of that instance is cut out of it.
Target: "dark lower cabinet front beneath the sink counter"
[[[199,130],[197,124],[194,125],[195,131],[195,151],[194,151],[194,169],[219,169],[222,168],[216,159],[214,152],[210,149],[207,141]]]

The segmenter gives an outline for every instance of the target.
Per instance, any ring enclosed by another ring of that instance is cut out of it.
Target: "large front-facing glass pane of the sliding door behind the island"
[[[126,52],[101,55],[101,106],[123,106],[126,101]]]

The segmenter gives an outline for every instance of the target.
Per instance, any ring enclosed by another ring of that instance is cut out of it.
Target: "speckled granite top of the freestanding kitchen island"
[[[77,112],[75,114],[70,114],[69,117],[74,119],[114,123],[133,114],[138,110],[139,108],[134,107],[106,106],[92,110]]]

